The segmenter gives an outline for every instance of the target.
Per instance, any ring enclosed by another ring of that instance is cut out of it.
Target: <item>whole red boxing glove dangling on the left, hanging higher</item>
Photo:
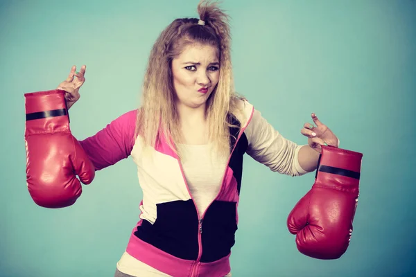
[[[64,91],[25,93],[26,181],[33,201],[44,208],[71,206],[92,182],[94,166],[72,136]]]

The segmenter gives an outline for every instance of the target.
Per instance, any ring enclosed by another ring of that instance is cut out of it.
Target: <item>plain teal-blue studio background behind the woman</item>
[[[78,139],[139,105],[150,48],[198,1],[0,1],[0,275],[113,276],[138,220],[131,158],[97,172],[75,205],[36,206],[26,188],[24,93],[55,89],[87,65],[71,108]],[[314,174],[288,177],[246,156],[233,276],[415,276],[416,1],[223,3],[236,89],[286,138],[306,143],[315,112],[363,152],[349,249],[299,253],[286,217]]]

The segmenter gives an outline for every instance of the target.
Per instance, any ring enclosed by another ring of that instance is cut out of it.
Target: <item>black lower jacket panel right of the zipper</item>
[[[236,230],[236,202],[212,202],[202,221],[201,262],[214,262],[227,256],[235,243]]]

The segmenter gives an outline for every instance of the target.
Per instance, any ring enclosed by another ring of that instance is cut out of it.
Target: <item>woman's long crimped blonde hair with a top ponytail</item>
[[[182,140],[180,120],[175,107],[171,61],[190,44],[204,44],[218,47],[220,60],[219,81],[207,100],[207,123],[209,141],[217,155],[229,154],[232,125],[230,116],[239,113],[234,92],[231,63],[231,36],[228,15],[218,8],[217,3],[202,0],[197,8],[199,19],[175,19],[159,35],[150,52],[144,76],[141,107],[137,113],[136,136],[144,140],[146,146],[155,146],[158,136],[171,146],[180,156],[177,143]],[[175,146],[174,146],[175,144]]]

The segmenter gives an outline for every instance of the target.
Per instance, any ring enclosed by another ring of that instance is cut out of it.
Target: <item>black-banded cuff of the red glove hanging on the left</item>
[[[69,114],[64,91],[51,90],[25,93],[25,136],[70,132]]]

